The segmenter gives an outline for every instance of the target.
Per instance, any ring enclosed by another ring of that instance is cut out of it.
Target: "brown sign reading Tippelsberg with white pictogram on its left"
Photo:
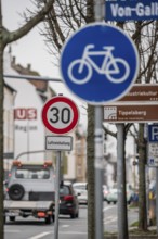
[[[147,123],[158,122],[157,104],[108,105],[104,106],[104,122],[108,123]]]

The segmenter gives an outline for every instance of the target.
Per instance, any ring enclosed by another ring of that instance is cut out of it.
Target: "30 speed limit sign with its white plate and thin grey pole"
[[[73,139],[60,136],[73,130],[79,120],[77,105],[69,98],[58,96],[50,99],[42,109],[44,126],[56,136],[45,137],[45,150],[56,151],[56,180],[55,180],[55,225],[54,238],[58,239],[58,212],[60,212],[60,183],[61,183],[61,151],[73,149]],[[68,144],[68,147],[67,147]]]

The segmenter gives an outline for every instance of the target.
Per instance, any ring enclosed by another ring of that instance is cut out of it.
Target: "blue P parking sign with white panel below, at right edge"
[[[148,125],[148,166],[158,166],[158,125]]]

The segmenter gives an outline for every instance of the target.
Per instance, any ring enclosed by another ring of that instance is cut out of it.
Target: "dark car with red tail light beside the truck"
[[[79,202],[71,183],[62,183],[60,186],[60,214],[79,216]]]

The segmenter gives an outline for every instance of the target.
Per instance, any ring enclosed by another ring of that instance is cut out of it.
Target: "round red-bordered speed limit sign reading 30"
[[[77,105],[66,97],[53,97],[42,109],[44,126],[54,134],[67,134],[77,125],[79,110]]]

